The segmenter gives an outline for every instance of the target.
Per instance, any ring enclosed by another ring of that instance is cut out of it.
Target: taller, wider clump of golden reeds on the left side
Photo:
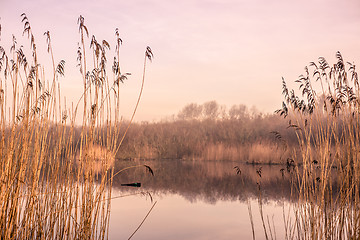
[[[15,36],[9,52],[0,46],[1,239],[106,239],[112,166],[124,137],[119,136],[119,88],[129,75],[119,65],[122,40],[116,30],[109,77],[110,44],[92,36],[88,48],[89,32],[79,17],[77,60],[84,91],[69,108],[60,91],[65,61],[56,61],[47,31],[43,41],[51,69],[45,69],[30,22],[21,17],[30,50]],[[145,64],[151,57],[148,47]],[[83,119],[80,131],[77,116]]]

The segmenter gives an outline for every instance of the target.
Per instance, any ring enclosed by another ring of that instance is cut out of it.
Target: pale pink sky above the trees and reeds
[[[132,73],[122,92],[125,118],[136,103],[147,45],[155,58],[137,121],[161,120],[187,103],[210,100],[273,112],[281,106],[281,77],[293,82],[320,56],[334,63],[336,51],[360,63],[359,11],[357,0],[0,0],[0,45],[9,51],[15,34],[29,47],[22,37],[25,12],[50,61],[43,36],[50,30],[56,61],[66,61],[63,94],[75,102],[82,90],[76,68],[81,14],[90,36],[112,47],[119,28],[122,69]]]

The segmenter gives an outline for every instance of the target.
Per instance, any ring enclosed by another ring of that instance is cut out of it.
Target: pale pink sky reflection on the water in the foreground
[[[182,196],[168,193],[157,198],[158,203],[133,239],[209,240],[252,239],[246,202],[201,200],[190,203]],[[265,239],[258,203],[250,201],[256,239]],[[150,207],[149,199],[130,196],[112,202],[109,239],[128,239]],[[289,206],[285,205],[287,209]],[[284,239],[282,206],[269,201],[265,216],[274,223],[277,239]]]

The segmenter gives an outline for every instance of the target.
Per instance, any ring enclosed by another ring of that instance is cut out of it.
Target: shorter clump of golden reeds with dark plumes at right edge
[[[295,167],[299,200],[289,239],[360,238],[360,95],[353,63],[311,62],[296,83],[283,80],[285,101],[277,112],[296,132],[301,166]]]

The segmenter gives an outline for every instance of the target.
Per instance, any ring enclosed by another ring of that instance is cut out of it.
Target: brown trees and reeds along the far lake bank
[[[285,163],[296,143],[287,126],[275,114],[250,112],[244,105],[226,111],[214,101],[189,104],[172,121],[134,124],[118,157]]]

